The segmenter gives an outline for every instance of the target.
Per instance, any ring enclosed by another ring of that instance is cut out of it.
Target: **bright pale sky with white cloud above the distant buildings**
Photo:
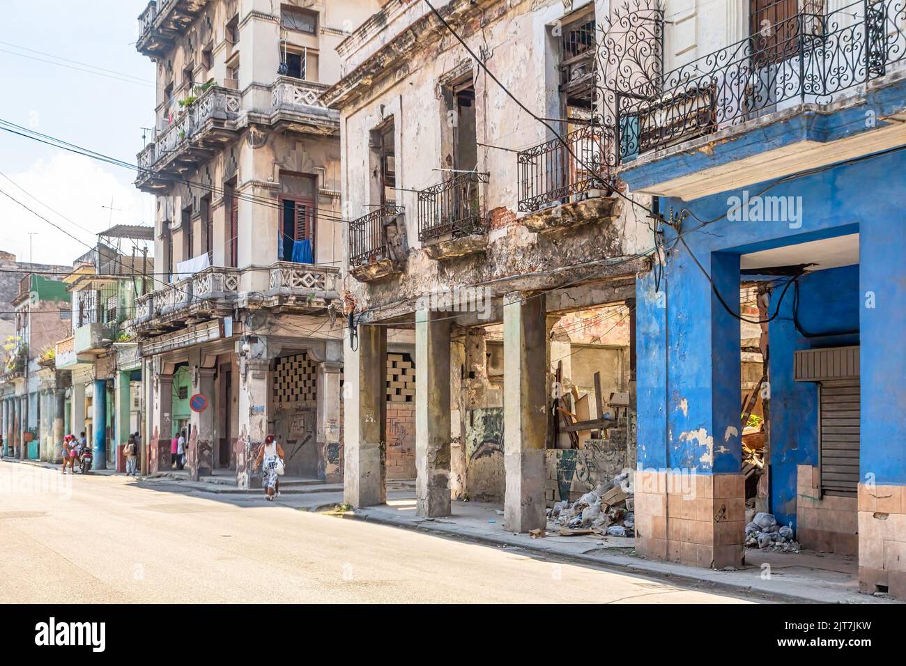
[[[3,0],[0,119],[135,164],[141,128],[154,116],[154,65],[135,50],[137,17],[147,4]],[[98,68],[110,72],[79,71]],[[134,188],[134,178],[132,169],[0,130],[0,191],[82,241],[0,194],[0,250],[28,261],[34,232],[35,262],[72,265],[111,222],[152,224],[154,198]],[[111,207],[111,199],[118,209],[112,213],[102,208]]]

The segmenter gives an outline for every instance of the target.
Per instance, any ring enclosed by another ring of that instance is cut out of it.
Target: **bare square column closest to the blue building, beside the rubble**
[[[545,296],[504,297],[504,528],[544,528],[547,437]]]

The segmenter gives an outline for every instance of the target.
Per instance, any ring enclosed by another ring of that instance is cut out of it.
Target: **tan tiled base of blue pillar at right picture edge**
[[[859,484],[859,591],[906,600],[906,486]]]

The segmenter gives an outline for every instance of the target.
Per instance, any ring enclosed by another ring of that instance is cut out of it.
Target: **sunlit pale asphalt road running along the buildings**
[[[291,505],[0,462],[0,603],[744,601]]]

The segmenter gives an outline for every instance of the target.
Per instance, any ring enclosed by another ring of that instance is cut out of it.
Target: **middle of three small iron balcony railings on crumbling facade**
[[[487,173],[470,171],[421,190],[419,241],[483,233],[487,218],[482,215],[482,186],[486,183]]]

